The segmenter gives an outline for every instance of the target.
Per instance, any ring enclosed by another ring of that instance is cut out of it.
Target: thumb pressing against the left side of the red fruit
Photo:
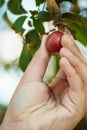
[[[26,72],[24,74],[24,79],[28,79],[28,81],[43,80],[43,76],[50,59],[50,54],[47,51],[45,46],[46,39],[47,39],[47,35],[44,35],[42,38],[40,48],[35,53],[29,66],[26,69]]]

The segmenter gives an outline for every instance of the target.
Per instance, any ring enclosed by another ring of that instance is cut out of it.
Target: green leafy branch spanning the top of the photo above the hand
[[[19,65],[23,71],[25,71],[35,51],[39,48],[42,35],[46,33],[43,25],[44,22],[53,20],[54,26],[58,26],[62,31],[65,31],[67,28],[77,40],[83,43],[83,45],[87,45],[87,19],[79,15],[81,9],[78,5],[78,0],[34,0],[38,9],[29,10],[29,12],[23,8],[22,1],[9,0],[7,9],[15,15],[19,15],[16,21],[9,25],[12,26],[16,33],[21,34],[22,37],[25,32],[23,24],[27,18],[27,14],[31,14],[30,19],[32,22],[29,20],[28,26],[33,27],[33,29],[27,32],[23,38],[23,50],[19,59]],[[0,0],[0,6],[4,2],[4,0]],[[72,7],[69,12],[61,12],[61,3],[63,2],[65,4],[66,2],[71,3]],[[43,7],[40,9],[41,5]],[[6,13],[4,16],[7,22],[9,22]]]

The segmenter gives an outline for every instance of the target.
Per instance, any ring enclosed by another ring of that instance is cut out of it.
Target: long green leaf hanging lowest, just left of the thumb
[[[36,30],[31,30],[26,35],[26,43],[24,44],[20,59],[19,66],[25,71],[26,67],[30,63],[34,53],[40,46],[40,38]]]

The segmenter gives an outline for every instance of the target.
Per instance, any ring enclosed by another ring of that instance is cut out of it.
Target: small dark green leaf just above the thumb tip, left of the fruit
[[[38,20],[38,19],[33,19],[33,25],[35,27],[35,29],[41,34],[45,34],[45,29],[44,29],[44,26],[43,26],[43,23]]]

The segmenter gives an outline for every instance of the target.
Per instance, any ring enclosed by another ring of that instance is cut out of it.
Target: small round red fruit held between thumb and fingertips
[[[46,47],[49,52],[59,52],[61,45],[61,37],[63,36],[63,32],[55,31],[51,33],[46,40]]]

